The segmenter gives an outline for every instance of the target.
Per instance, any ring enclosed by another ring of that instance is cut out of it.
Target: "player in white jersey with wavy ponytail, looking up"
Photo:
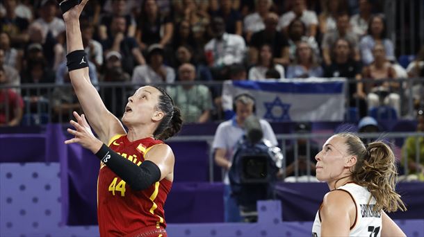
[[[389,146],[341,133],[330,137],[315,159],[316,177],[330,191],[316,213],[312,236],[405,236],[384,212],[406,210],[395,191]]]

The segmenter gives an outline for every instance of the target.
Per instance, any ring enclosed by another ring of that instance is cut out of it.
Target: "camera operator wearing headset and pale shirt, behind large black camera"
[[[248,94],[240,94],[234,98],[234,111],[236,116],[229,121],[225,121],[218,125],[213,138],[213,153],[215,164],[222,167],[225,171],[225,192],[224,192],[224,209],[225,222],[240,222],[240,213],[236,201],[231,197],[231,188],[229,186],[228,170],[231,168],[231,159],[233,157],[234,148],[237,142],[245,133],[243,124],[245,119],[254,114],[254,98]],[[272,131],[270,124],[261,119],[261,128],[263,130],[263,138],[277,146],[277,139]]]

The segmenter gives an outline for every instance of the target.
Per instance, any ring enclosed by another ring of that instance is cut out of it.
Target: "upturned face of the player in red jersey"
[[[122,122],[127,126],[151,123],[158,113],[159,96],[161,91],[154,87],[140,87],[133,96],[128,98]]]

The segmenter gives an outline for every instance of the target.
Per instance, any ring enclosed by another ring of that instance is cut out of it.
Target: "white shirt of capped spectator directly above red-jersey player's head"
[[[171,67],[163,65],[162,67],[165,67],[166,71],[166,80],[163,81],[163,78],[159,76],[158,73],[153,71],[152,67],[149,66],[149,64],[145,65],[139,65],[136,68],[134,68],[133,71],[133,78],[131,78],[131,81],[133,83],[138,83],[142,85],[152,84],[152,83],[172,83],[175,80],[175,71]]]

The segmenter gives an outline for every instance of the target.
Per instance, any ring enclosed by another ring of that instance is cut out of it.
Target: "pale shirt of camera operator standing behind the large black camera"
[[[245,130],[238,126],[235,118],[236,117],[234,116],[233,119],[220,123],[216,129],[215,137],[213,137],[213,150],[217,148],[225,149],[227,151],[225,153],[225,158],[228,160],[232,159],[234,155],[234,148],[240,138],[243,137],[243,134],[245,134]],[[277,139],[275,138],[275,134],[270,123],[263,119],[260,119],[259,122],[261,123],[263,131],[263,139],[270,141],[273,146],[277,146]],[[228,170],[225,170],[224,184],[229,184]]]

